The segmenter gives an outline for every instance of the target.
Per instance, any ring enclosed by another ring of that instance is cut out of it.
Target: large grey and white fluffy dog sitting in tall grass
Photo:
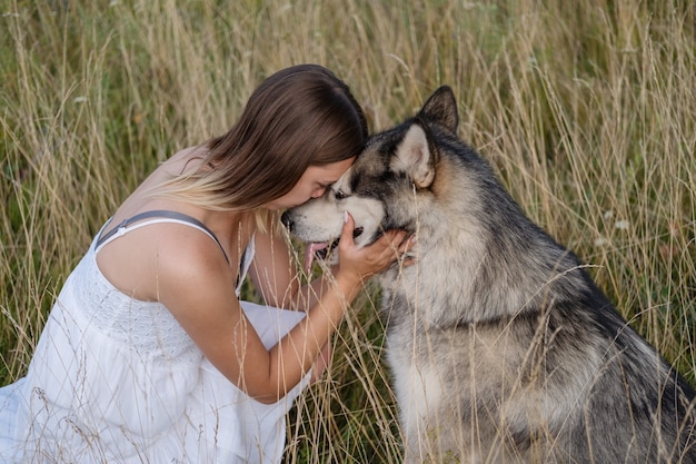
[[[695,393],[457,136],[453,90],[284,224],[316,253],[416,235],[378,276],[405,463],[696,463]],[[322,244],[322,245],[317,245]]]

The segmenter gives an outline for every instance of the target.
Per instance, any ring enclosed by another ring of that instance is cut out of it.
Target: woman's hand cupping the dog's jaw
[[[356,284],[386,270],[416,243],[415,237],[409,236],[406,230],[387,230],[374,244],[359,248],[352,238],[354,229],[355,220],[346,213],[346,221],[338,243],[339,263],[336,277],[345,275],[355,278]],[[404,261],[406,266],[410,264],[412,264],[410,258]]]

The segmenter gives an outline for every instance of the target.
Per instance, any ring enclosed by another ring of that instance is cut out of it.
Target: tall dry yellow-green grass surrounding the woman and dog
[[[455,89],[460,135],[696,383],[696,8],[687,1],[0,1],[0,385],[103,220],[267,75],[332,69],[374,130]],[[366,293],[287,462],[398,462]]]

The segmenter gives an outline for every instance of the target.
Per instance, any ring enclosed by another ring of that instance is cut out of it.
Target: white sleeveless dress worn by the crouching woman
[[[276,404],[250,398],[165,306],[106,279],[96,243],[66,280],[27,376],[0,388],[0,463],[280,462],[286,414],[309,375]],[[253,241],[242,277],[252,253]],[[305,316],[242,308],[267,347]]]

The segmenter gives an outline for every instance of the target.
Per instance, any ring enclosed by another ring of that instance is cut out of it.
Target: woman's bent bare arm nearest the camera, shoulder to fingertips
[[[162,244],[168,249],[159,250],[160,302],[230,382],[259,402],[274,403],[309,371],[365,282],[396,259],[395,250],[408,249],[404,238],[405,233],[392,231],[369,247],[357,248],[350,219],[339,243],[340,264],[332,284],[307,317],[270,349],[235,298],[236,275],[215,244]]]

